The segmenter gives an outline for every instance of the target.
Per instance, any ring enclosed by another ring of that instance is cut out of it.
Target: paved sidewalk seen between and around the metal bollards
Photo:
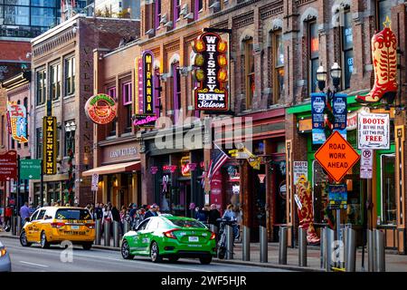
[[[0,238],[18,238],[12,236],[11,232],[0,232]],[[121,243],[120,243],[121,244]],[[113,246],[113,239],[110,241],[110,247],[104,247],[104,239],[101,239],[101,245],[94,245],[94,248],[120,251],[119,247]],[[312,271],[312,272],[325,272],[320,268],[320,251],[319,247],[308,246],[308,266],[298,266],[298,248],[287,248],[287,265],[279,265],[279,244],[269,243],[268,263],[260,263],[260,244],[251,243],[251,260],[242,261],[242,248],[241,243],[236,243],[233,249],[232,260],[221,260],[214,258],[213,261],[217,263],[239,264],[246,266],[265,266],[280,269],[287,269],[292,271]],[[119,254],[118,254],[119,255]],[[407,272],[407,256],[397,255],[394,251],[386,250],[386,272]],[[367,272],[367,252],[364,251],[364,269],[362,268],[362,248],[358,248],[356,252],[356,272]]]

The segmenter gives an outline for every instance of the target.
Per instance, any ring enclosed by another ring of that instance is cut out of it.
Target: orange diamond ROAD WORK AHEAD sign
[[[339,182],[346,172],[352,169],[359,158],[359,154],[338,131],[329,136],[315,153],[315,159],[336,182]]]

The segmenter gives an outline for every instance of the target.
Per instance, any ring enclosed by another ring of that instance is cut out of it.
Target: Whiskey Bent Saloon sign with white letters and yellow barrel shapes
[[[201,34],[193,43],[195,110],[228,111],[228,43],[219,34]]]

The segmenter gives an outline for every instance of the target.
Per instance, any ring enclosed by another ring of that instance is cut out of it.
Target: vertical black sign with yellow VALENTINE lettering
[[[43,174],[56,174],[56,117],[43,117]]]

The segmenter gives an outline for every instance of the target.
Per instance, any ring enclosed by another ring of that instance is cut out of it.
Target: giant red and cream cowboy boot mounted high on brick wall
[[[356,102],[374,103],[384,98],[387,103],[393,103],[397,92],[397,40],[390,27],[389,17],[386,17],[383,25],[383,30],[372,37],[374,87],[368,94],[356,96]]]

